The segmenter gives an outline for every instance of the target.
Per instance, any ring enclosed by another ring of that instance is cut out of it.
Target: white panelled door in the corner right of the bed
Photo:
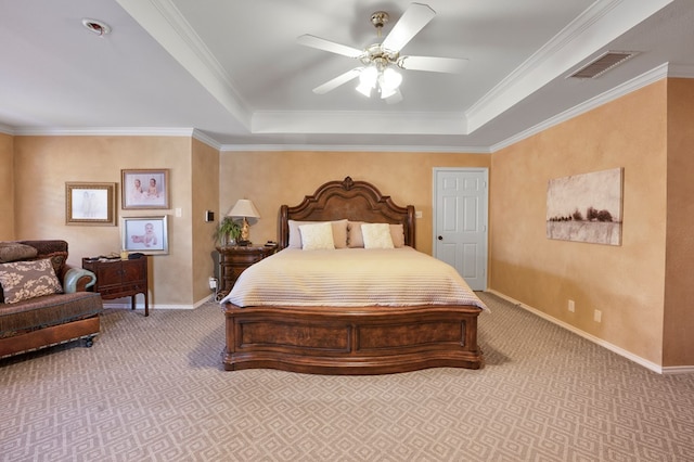
[[[434,169],[434,256],[473,291],[487,288],[488,178],[486,168]]]

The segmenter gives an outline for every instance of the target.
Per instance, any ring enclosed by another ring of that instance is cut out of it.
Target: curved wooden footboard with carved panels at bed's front
[[[246,307],[224,305],[224,369],[386,374],[479,369],[474,306]]]

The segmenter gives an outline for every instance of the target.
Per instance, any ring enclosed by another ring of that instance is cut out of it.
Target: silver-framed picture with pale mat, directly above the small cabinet
[[[127,252],[140,252],[146,255],[169,253],[167,216],[123,217],[120,248]]]

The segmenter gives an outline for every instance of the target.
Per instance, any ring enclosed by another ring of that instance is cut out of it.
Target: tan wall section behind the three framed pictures
[[[191,306],[190,138],[15,137],[14,150],[17,239],[64,239],[69,243],[69,262],[76,266],[82,257],[118,252],[120,227],[65,224],[65,182],[119,185],[123,168],[169,168],[171,209],[120,210],[118,200],[117,217],[169,216],[169,255],[150,257],[150,300]],[[177,207],[181,217],[172,213]]]

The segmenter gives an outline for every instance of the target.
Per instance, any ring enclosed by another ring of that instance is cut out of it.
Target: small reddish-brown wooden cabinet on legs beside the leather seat
[[[144,316],[150,316],[146,256],[132,260],[82,258],[82,268],[97,274],[93,291],[99,292],[101,298],[111,300],[129,296],[131,307],[134,309],[136,295],[143,294]]]

